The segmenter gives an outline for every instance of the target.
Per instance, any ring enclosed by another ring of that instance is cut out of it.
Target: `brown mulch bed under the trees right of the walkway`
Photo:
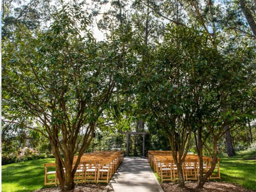
[[[235,183],[211,182],[204,184],[203,189],[195,189],[197,182],[185,181],[185,188],[179,188],[177,182],[161,183],[164,192],[253,192]]]

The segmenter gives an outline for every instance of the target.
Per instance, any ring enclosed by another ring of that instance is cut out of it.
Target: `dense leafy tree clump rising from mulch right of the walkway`
[[[254,48],[244,47],[225,55],[217,49],[217,43],[212,44],[205,31],[169,26],[140,80],[144,92],[138,91],[143,101],[139,105],[145,116],[161,124],[168,135],[180,187],[184,181],[179,163],[183,163],[187,154],[191,132],[198,134],[195,136],[200,163],[197,188],[201,188],[215,168],[218,140],[244,122],[246,116],[251,116]],[[247,72],[251,74],[249,79]],[[225,125],[229,127],[224,131]],[[203,175],[204,140],[210,136],[213,162]]]

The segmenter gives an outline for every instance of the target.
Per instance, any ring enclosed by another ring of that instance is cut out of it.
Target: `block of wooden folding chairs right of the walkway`
[[[212,158],[203,157],[203,173],[205,174],[212,166]],[[174,163],[171,152],[148,152],[148,162],[157,172],[161,180],[178,180],[178,169]],[[215,166],[216,174],[212,174],[210,179],[220,179],[220,159],[218,158]],[[197,180],[199,176],[199,157],[196,155],[187,155],[182,164],[184,180]]]

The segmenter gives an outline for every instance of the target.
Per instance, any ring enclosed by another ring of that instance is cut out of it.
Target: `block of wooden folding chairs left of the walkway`
[[[74,177],[75,183],[86,182],[106,182],[116,172],[119,165],[124,160],[123,151],[94,151],[84,154],[78,164]],[[74,157],[73,167],[77,162],[77,156]],[[47,167],[55,167],[55,171],[47,171]],[[65,172],[65,167],[63,168]],[[58,183],[56,174],[56,164],[44,164],[45,178],[44,185],[56,185]],[[49,179],[48,175],[53,175],[54,179]]]

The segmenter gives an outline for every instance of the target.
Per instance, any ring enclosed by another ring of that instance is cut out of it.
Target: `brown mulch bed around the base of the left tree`
[[[102,192],[106,185],[102,184],[79,184],[75,186],[75,189],[70,190],[69,192]],[[61,192],[60,187],[51,187],[38,189],[34,192]]]

